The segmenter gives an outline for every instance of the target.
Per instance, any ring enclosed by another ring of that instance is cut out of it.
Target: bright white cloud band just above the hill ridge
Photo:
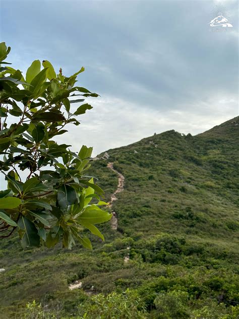
[[[202,133],[238,115],[237,100],[230,97],[211,97],[194,101],[191,107],[168,111],[138,107],[114,97],[97,98],[91,103],[94,108],[81,116],[81,125],[71,126],[57,140],[71,144],[74,151],[82,144],[93,146],[94,155],[137,142],[154,132],[174,129],[185,134]]]

